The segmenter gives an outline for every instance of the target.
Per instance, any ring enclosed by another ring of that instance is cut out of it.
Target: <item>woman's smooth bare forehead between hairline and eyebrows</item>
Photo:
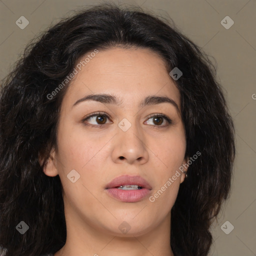
[[[137,104],[135,101],[148,95],[169,96],[180,104],[179,91],[164,60],[150,49],[111,48],[91,55],[87,52],[75,68],[77,73],[66,92],[67,100],[76,101],[93,93],[110,93],[127,105]]]

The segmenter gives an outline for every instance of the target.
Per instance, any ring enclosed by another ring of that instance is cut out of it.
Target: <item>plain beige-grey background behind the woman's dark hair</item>
[[[0,0],[0,79],[36,34],[66,16],[68,11],[99,2],[102,1]],[[121,3],[140,5],[160,16],[171,17],[185,35],[216,59],[217,79],[225,89],[235,124],[237,155],[231,196],[223,205],[218,223],[212,227],[215,241],[209,255],[256,255],[256,94],[253,94],[256,93],[256,0],[124,0]],[[229,29],[220,23],[226,15],[234,21]],[[20,16],[29,21],[24,29],[15,24]],[[229,234],[220,228],[226,220],[234,226]]]

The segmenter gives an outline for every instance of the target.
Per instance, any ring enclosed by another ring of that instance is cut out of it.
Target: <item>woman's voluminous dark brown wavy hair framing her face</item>
[[[112,47],[148,48],[182,75],[180,92],[188,167],[171,208],[175,256],[204,256],[210,226],[230,193],[234,127],[216,68],[175,25],[152,13],[102,3],[60,20],[30,42],[3,80],[0,94],[0,246],[6,256],[55,253],[66,239],[62,185],[43,168],[56,148],[56,128],[69,84],[47,97],[85,53]],[[42,162],[40,162],[42,159]],[[24,234],[16,225],[24,221]]]

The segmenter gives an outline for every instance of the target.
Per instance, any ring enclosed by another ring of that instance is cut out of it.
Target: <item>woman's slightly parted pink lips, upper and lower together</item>
[[[122,190],[118,189],[117,187],[120,185],[139,185],[142,188],[136,190]],[[105,190],[107,191],[108,195],[114,197],[117,200],[123,202],[136,202],[143,199],[150,193],[152,187],[149,183],[142,178],[141,176],[129,176],[129,175],[122,175],[119,177],[114,178],[110,181]]]

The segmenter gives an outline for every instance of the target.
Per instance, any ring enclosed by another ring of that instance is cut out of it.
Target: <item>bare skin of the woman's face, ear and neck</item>
[[[89,100],[73,106],[93,93],[111,93],[122,105]],[[181,175],[154,202],[149,196],[186,163],[185,131],[174,105],[139,108],[149,95],[168,96],[180,109],[179,91],[163,59],[150,49],[99,50],[71,81],[61,104],[57,149],[44,168],[48,176],[59,175],[63,186],[67,238],[54,256],[173,255],[170,210],[185,174],[179,171]],[[97,111],[110,118],[84,121]],[[172,123],[162,119],[158,124],[149,117],[154,113],[165,114]],[[123,118],[131,124],[127,131],[118,127]],[[98,128],[85,123],[104,124]],[[74,183],[67,178],[72,169],[80,175]],[[146,179],[152,187],[149,195],[137,202],[109,196],[106,184],[122,174]],[[125,234],[118,228],[123,221],[130,226]]]

